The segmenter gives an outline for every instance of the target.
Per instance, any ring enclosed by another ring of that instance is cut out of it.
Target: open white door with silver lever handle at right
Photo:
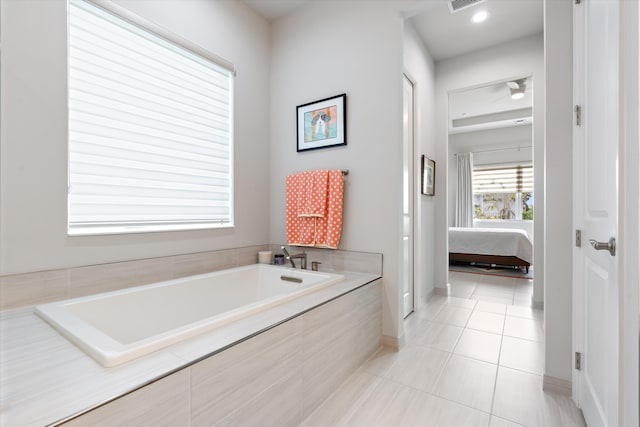
[[[617,0],[574,6],[574,96],[582,113],[574,126],[574,212],[582,230],[574,256],[581,353],[574,378],[589,427],[618,425],[618,257],[606,249],[618,238],[618,10]]]

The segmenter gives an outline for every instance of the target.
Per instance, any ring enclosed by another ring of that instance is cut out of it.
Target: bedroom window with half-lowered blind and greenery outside
[[[474,219],[532,220],[533,166],[475,168]]]

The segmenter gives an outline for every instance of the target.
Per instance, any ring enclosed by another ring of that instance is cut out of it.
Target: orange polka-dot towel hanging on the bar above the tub
[[[314,175],[303,172],[287,176],[285,193],[287,242],[297,246],[337,249],[342,233],[344,193],[342,171],[316,172],[321,173]],[[327,176],[327,185],[324,191],[322,191],[321,185],[309,182],[309,180],[317,180],[318,176],[322,176],[322,173]],[[311,201],[309,201],[309,192],[305,192],[309,186],[320,192],[319,194],[314,193]],[[301,215],[299,209],[311,209],[312,213],[316,215]]]

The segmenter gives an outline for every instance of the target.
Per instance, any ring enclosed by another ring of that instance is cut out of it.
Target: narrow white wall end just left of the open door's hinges
[[[545,375],[571,381],[572,2],[545,0]],[[536,270],[537,274],[537,270]]]

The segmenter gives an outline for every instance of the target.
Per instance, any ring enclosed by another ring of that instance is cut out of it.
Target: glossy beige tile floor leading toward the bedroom
[[[543,392],[542,311],[530,280],[450,274],[451,294],[405,321],[303,423],[315,426],[584,426],[568,396]]]

